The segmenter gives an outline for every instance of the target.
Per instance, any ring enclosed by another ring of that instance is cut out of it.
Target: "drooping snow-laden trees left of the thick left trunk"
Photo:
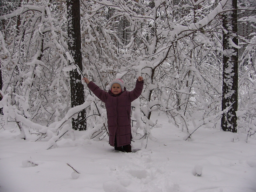
[[[1,11],[4,121],[14,119],[20,128],[30,122],[49,126],[66,115],[70,103],[69,75],[62,71],[69,56],[65,10],[60,1],[42,1],[7,4]]]

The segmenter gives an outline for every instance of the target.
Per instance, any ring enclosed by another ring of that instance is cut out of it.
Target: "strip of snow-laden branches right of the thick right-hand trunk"
[[[256,133],[255,119],[255,18],[256,4],[253,1],[238,3],[238,40],[241,47],[239,54],[238,82],[238,129],[248,133],[248,137]]]

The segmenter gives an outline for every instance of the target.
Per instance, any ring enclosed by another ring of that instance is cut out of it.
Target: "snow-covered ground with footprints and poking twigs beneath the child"
[[[255,192],[256,138],[199,128],[193,139],[168,123],[152,129],[156,141],[132,143],[134,153],[115,151],[107,138],[16,139],[17,127],[0,129],[0,192]],[[191,132],[193,128],[191,128]],[[140,150],[139,150],[140,149]],[[68,165],[69,164],[69,165]],[[73,167],[77,172],[73,171]],[[200,176],[201,175],[201,176]],[[78,178],[77,178],[78,177]]]

